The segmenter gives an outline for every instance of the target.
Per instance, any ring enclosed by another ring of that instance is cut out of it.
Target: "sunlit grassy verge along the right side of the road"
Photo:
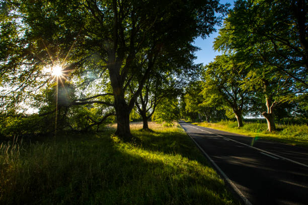
[[[267,132],[266,123],[249,122],[238,128],[238,123],[233,121],[221,121],[218,123],[193,123],[194,125],[238,133],[251,137],[259,137],[267,140],[275,140],[290,145],[299,145],[308,148],[307,125],[277,125],[278,131]]]

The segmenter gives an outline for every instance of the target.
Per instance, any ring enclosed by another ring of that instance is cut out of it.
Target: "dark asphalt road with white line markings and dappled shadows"
[[[247,204],[308,204],[308,149],[180,121]]]

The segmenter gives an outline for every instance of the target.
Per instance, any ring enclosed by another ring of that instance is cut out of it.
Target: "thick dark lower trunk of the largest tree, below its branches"
[[[132,135],[129,128],[129,110],[125,99],[116,100],[115,110],[117,116],[116,135],[124,141],[131,141]]]

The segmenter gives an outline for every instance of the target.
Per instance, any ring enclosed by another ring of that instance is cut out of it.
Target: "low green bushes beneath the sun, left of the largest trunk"
[[[58,98],[56,97],[57,93]],[[56,85],[53,85],[37,94],[35,98],[36,101],[33,103],[37,104],[38,114],[26,115],[11,110],[10,113],[0,115],[1,138],[4,140],[12,140],[13,138],[36,140],[54,133],[55,129],[73,131],[99,130],[107,123],[112,122],[110,118],[100,122],[102,114],[106,116],[106,113],[110,112],[104,106],[69,106],[75,98],[74,89],[70,84],[59,87],[58,91]],[[57,126],[55,125],[56,121]]]

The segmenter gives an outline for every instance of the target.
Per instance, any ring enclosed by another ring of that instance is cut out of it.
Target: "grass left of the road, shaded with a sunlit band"
[[[3,143],[0,204],[238,204],[179,125]]]

